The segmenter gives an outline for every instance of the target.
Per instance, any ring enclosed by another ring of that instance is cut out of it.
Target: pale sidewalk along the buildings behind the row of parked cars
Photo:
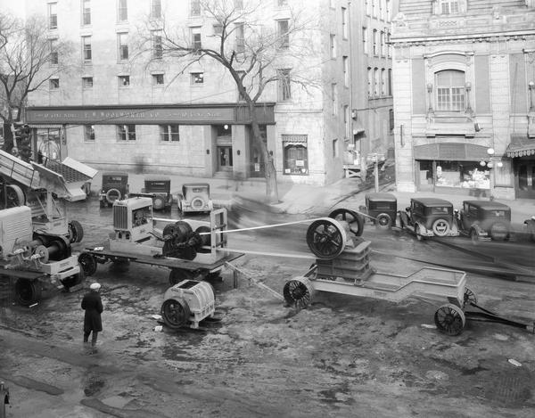
[[[129,173],[128,183],[130,192],[140,192],[144,187],[144,177],[147,174]],[[171,175],[171,193],[177,196],[181,193],[182,184],[185,183],[208,183],[210,184],[210,197],[216,206],[230,208],[235,198],[264,202],[266,196],[266,184],[264,179],[247,179],[236,182],[227,178],[202,178],[193,176]],[[95,176],[91,190],[98,193],[102,184],[101,172]],[[374,188],[360,191],[361,182],[358,178],[343,178],[326,186],[307,184],[278,184],[279,203],[269,205],[269,209],[278,213],[309,214],[327,216],[333,209],[345,208],[358,210],[360,205],[365,204],[366,193],[373,192]],[[381,192],[394,194],[398,198],[398,209],[406,208],[412,197],[436,197],[453,203],[456,209],[460,209],[463,201],[476,199],[460,194],[443,193],[402,193],[395,190],[394,184],[385,184],[380,187]],[[487,200],[481,198],[481,200]],[[498,201],[498,200],[497,200]],[[517,199],[515,201],[500,201],[511,208],[511,222],[514,225],[523,225],[525,219],[535,215],[535,201],[529,199]]]

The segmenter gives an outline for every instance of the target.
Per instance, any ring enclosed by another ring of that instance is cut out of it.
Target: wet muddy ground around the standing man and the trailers
[[[88,234],[88,242],[91,242]],[[253,241],[251,241],[252,245]],[[154,331],[167,269],[99,266],[103,327],[98,351],[82,344],[84,291],[49,290],[37,307],[3,299],[0,380],[8,417],[531,417],[535,335],[468,322],[437,332],[437,305],[319,293],[311,307],[285,307],[282,293],[309,261],[245,256],[214,282],[221,321],[204,331]],[[416,262],[374,255],[383,272]],[[534,285],[478,275],[481,305],[533,320]],[[509,362],[514,359],[519,365]]]

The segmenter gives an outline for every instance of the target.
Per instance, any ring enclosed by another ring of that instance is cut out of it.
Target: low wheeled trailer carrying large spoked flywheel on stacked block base
[[[533,325],[516,323],[479,307],[466,284],[465,272],[424,267],[411,275],[378,273],[369,265],[371,242],[352,239],[347,223],[333,218],[315,220],[307,230],[309,249],[317,257],[309,271],[284,284],[286,303],[308,307],[317,291],[329,291],[394,302],[414,297],[425,301],[445,301],[434,314],[440,332],[457,335],[465,328],[466,317],[512,324],[533,332]],[[476,307],[482,312],[465,312]]]

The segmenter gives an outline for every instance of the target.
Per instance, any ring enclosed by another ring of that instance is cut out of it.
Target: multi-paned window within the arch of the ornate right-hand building
[[[465,111],[465,72],[442,70],[435,73],[437,111]]]

